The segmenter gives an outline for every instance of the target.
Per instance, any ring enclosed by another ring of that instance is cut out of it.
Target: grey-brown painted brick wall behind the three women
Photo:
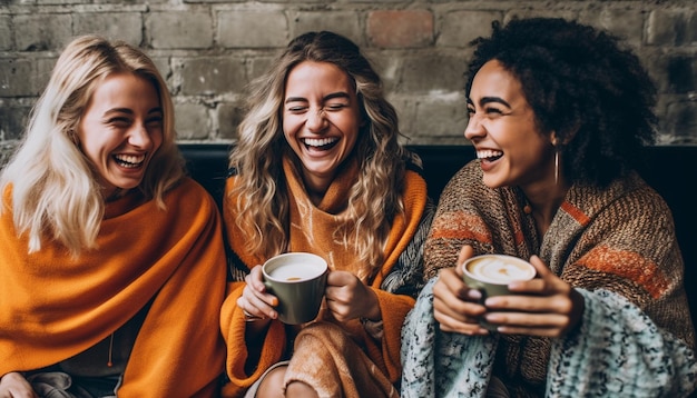
[[[513,16],[577,19],[626,38],[659,89],[660,143],[697,145],[695,0],[0,0],[0,148],[21,136],[73,36],[145,48],[174,94],[179,140],[232,142],[245,84],[291,38],[322,29],[373,60],[410,143],[463,145],[468,43]]]

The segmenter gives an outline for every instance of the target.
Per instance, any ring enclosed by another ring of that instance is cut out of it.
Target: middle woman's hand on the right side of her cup
[[[326,308],[340,322],[355,318],[382,319],[377,295],[351,272],[331,271],[324,293]]]

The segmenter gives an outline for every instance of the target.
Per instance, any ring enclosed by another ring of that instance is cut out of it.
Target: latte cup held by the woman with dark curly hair
[[[482,293],[480,302],[487,297],[510,295],[508,285],[513,281],[530,280],[537,271],[523,259],[505,255],[481,255],[468,259],[462,266],[464,282],[470,289]],[[480,324],[495,330],[495,326],[484,319]]]

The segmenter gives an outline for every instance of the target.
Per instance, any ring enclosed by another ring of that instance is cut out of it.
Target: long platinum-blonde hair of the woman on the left
[[[184,160],[175,142],[174,106],[153,61],[125,42],[96,36],[76,38],[58,58],[31,111],[23,140],[0,175],[0,192],[12,187],[12,202],[3,200],[0,212],[11,211],[18,233],[28,233],[29,252],[40,250],[42,239],[61,242],[75,256],[96,248],[105,198],[76,132],[95,89],[108,76],[122,72],[150,81],[163,108],[163,143],[139,190],[164,209],[164,193],[184,176]]]

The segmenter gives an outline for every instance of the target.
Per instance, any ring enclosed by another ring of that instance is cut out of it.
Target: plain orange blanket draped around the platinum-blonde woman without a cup
[[[11,189],[4,192],[11,202]],[[0,375],[57,364],[108,337],[153,299],[119,397],[213,397],[225,348],[225,251],[213,199],[185,179],[167,210],[131,192],[107,205],[99,248],[50,241],[27,253],[0,217]],[[7,205],[11,207],[11,205]]]

